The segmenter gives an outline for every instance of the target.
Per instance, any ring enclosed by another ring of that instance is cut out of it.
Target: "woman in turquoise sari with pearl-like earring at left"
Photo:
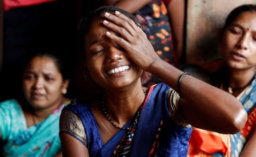
[[[62,156],[58,135],[69,84],[62,60],[35,55],[23,73],[24,98],[0,103],[0,139],[4,156]],[[14,89],[16,90],[16,89]]]

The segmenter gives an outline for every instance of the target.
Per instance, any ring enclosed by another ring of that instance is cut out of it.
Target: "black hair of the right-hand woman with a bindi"
[[[240,5],[233,9],[230,14],[228,15],[225,25],[221,31],[220,39],[222,39],[225,30],[230,26],[230,24],[241,14],[244,12],[256,12],[256,5],[253,4],[246,4]]]

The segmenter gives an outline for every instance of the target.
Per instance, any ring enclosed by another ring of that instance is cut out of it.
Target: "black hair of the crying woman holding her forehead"
[[[87,14],[85,14],[84,16],[82,16],[80,22],[79,22],[79,26],[78,26],[78,44],[79,47],[81,49],[81,51],[83,52],[83,54],[85,54],[84,52],[84,38],[85,35],[87,34],[88,30],[90,29],[90,24],[91,22],[95,19],[98,18],[100,16],[103,16],[106,12],[108,13],[114,13],[115,11],[118,11],[124,15],[126,15],[128,18],[132,19],[137,26],[139,26],[143,32],[145,32],[147,34],[147,37],[149,39],[148,36],[148,32],[146,29],[146,26],[140,21],[138,20],[138,18],[136,18],[133,14],[128,13],[125,10],[122,10],[120,8],[114,7],[114,6],[101,6]]]

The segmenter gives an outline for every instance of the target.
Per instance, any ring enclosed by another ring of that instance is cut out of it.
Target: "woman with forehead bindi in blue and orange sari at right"
[[[256,5],[241,5],[230,12],[219,44],[224,65],[213,78],[215,86],[240,100],[248,120],[237,134],[193,128],[189,155],[252,157],[256,154]]]

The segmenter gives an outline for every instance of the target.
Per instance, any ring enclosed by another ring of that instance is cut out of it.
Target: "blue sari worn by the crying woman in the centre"
[[[184,157],[187,155],[191,127],[184,128],[173,122],[167,105],[169,89],[170,87],[163,83],[149,89],[140,112],[138,125],[134,128],[134,137],[129,150],[130,156]],[[62,112],[65,110],[71,111],[81,119],[87,141],[82,141],[76,134],[68,131],[60,130],[60,133],[70,134],[82,142],[87,147],[90,157],[111,156],[127,133],[126,130],[119,130],[107,143],[103,144],[96,120],[88,104],[74,100]],[[66,120],[70,117],[67,117]],[[74,123],[65,123],[65,125],[72,125],[72,129],[74,129],[77,127],[76,118],[72,119]],[[123,127],[131,126],[133,121],[134,119],[130,120]]]

